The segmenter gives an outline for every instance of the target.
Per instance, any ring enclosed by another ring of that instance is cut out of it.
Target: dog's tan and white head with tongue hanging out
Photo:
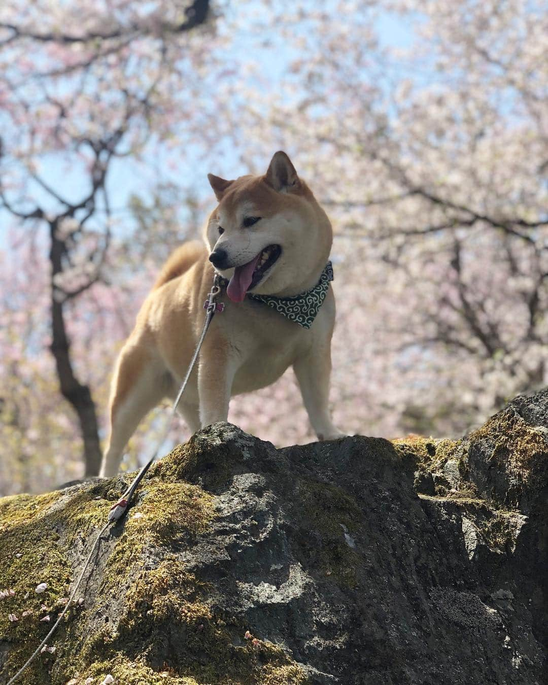
[[[208,179],[219,206],[205,237],[230,299],[241,302],[248,291],[290,297],[319,281],[332,227],[285,152],[275,153],[263,176]]]

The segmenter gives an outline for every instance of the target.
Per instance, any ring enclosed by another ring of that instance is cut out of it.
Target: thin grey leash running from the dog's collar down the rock
[[[55,632],[55,629],[58,627],[58,625],[61,623],[62,618],[64,614],[66,614],[67,610],[69,609],[69,606],[71,606],[71,603],[74,600],[74,597],[76,595],[77,589],[79,588],[79,585],[82,583],[82,579],[84,578],[84,573],[86,573],[86,569],[88,568],[91,558],[93,556],[93,553],[99,545],[99,540],[101,540],[101,536],[105,532],[105,530],[108,529],[108,527],[111,524],[116,523],[116,521],[119,521],[121,517],[125,514],[127,511],[127,507],[129,506],[129,503],[132,500],[132,497],[135,493],[135,490],[137,489],[138,484],[141,482],[143,477],[145,477],[145,473],[149,470],[151,464],[153,461],[158,457],[158,452],[160,451],[160,448],[164,444],[167,436],[169,435],[169,431],[171,429],[171,425],[173,424],[173,419],[175,418],[175,412],[177,411],[177,406],[179,405],[179,401],[181,401],[181,397],[184,393],[184,390],[186,388],[186,385],[188,384],[188,379],[190,378],[190,374],[192,373],[192,369],[194,369],[194,366],[196,364],[196,360],[199,356],[201,346],[203,345],[203,340],[206,338],[206,333],[208,332],[208,328],[210,327],[210,323],[213,319],[213,316],[215,312],[222,312],[225,308],[224,304],[222,302],[217,302],[216,299],[219,297],[219,294],[221,293],[221,276],[219,274],[214,275],[213,279],[213,285],[208,293],[208,299],[203,305],[203,308],[206,310],[206,320],[203,322],[203,328],[201,330],[201,335],[198,340],[198,344],[196,345],[196,349],[194,351],[194,355],[192,356],[192,360],[190,361],[190,366],[188,366],[188,370],[186,371],[186,376],[184,377],[184,381],[181,384],[181,387],[179,388],[179,393],[177,393],[177,397],[175,397],[175,401],[173,402],[173,407],[171,408],[171,415],[169,416],[169,421],[166,423],[166,428],[164,429],[164,433],[162,434],[162,437],[160,440],[158,440],[158,443],[156,445],[156,449],[153,452],[153,455],[151,458],[147,461],[145,466],[142,466],[140,469],[139,473],[136,475],[136,477],[133,479],[132,484],[125,490],[125,493],[122,495],[122,497],[119,499],[119,501],[116,502],[111,508],[110,512],[108,512],[108,519],[105,525],[103,525],[101,531],[97,535],[97,538],[95,538],[95,542],[93,543],[90,553],[88,554],[88,557],[86,558],[86,562],[84,563],[84,568],[82,569],[82,572],[80,573],[78,580],[73,588],[73,591],[71,593],[71,596],[69,597],[69,600],[66,602],[66,605],[64,606],[64,609],[62,612],[59,614],[59,617],[57,621],[53,624],[53,627],[51,627],[51,630],[45,636],[45,638],[42,640],[40,645],[36,648],[36,651],[32,654],[32,656],[25,662],[25,664],[17,671],[17,673],[11,678],[11,680],[8,680],[7,685],[12,685],[18,677],[25,671],[29,665],[34,661],[36,656],[40,653],[40,650],[42,647],[47,645],[47,641],[53,633]]]

